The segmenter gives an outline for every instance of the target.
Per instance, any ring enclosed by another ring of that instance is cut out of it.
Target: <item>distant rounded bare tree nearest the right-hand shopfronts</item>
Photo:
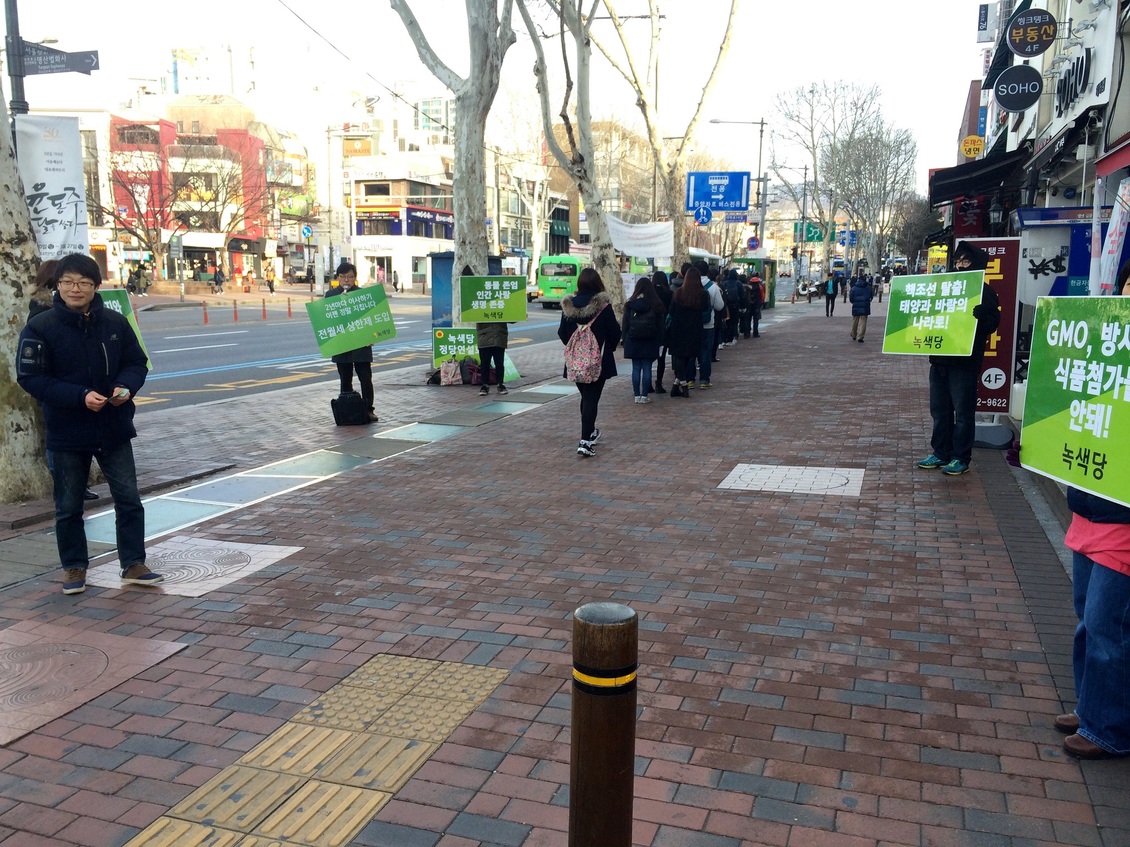
[[[860,225],[868,267],[879,267],[901,202],[914,192],[918,145],[907,130],[885,125],[881,116],[838,146],[836,163],[825,174],[836,186],[843,208]],[[831,156],[832,151],[826,155]]]

